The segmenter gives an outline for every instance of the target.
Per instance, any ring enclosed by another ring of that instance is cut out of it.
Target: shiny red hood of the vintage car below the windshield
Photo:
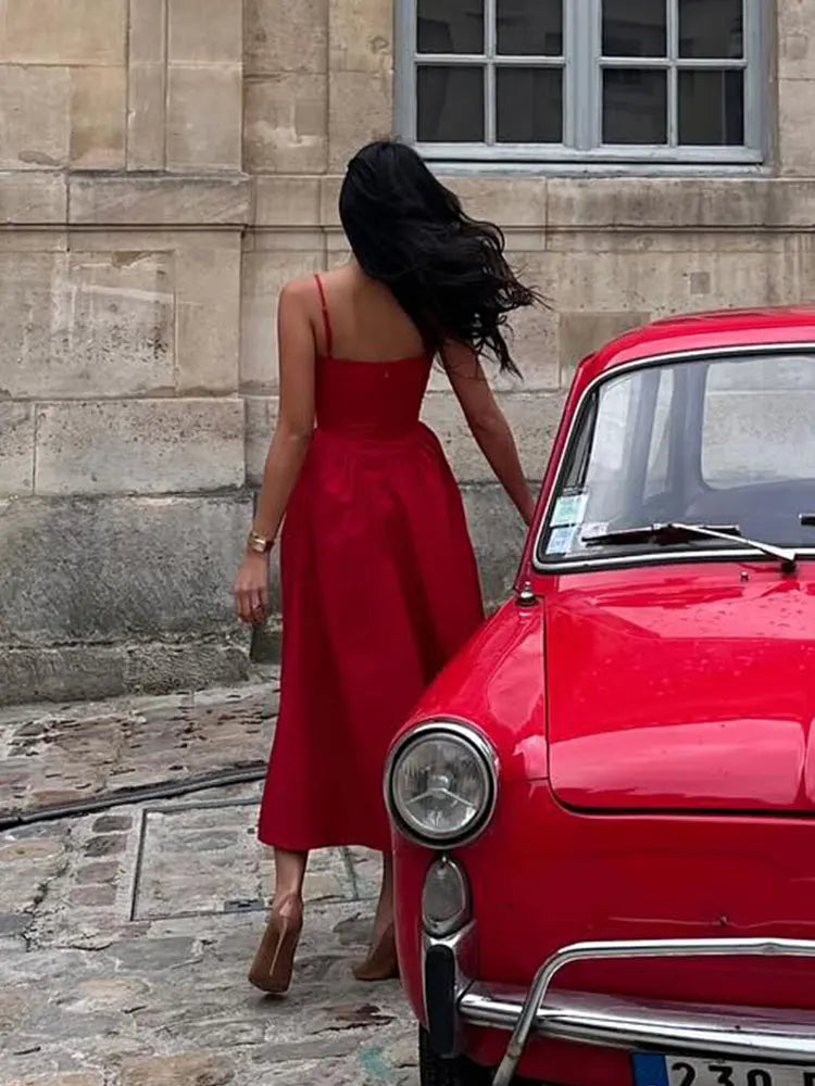
[[[815,812],[815,582],[764,564],[560,579],[550,781],[595,811]]]

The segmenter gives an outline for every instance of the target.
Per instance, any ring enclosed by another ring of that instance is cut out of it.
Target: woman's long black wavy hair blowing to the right
[[[390,288],[429,351],[465,343],[518,374],[506,318],[541,299],[510,267],[501,230],[466,215],[412,148],[379,140],[359,151],[340,218],[363,272]]]

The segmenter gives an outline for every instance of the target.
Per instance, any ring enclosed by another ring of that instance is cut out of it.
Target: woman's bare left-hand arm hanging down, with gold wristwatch
[[[310,283],[308,285],[310,286]],[[314,333],[306,285],[289,283],[277,308],[280,368],[277,425],[263,470],[252,530],[274,540],[314,432]],[[268,609],[268,554],[247,550],[235,584],[235,609],[260,622]]]

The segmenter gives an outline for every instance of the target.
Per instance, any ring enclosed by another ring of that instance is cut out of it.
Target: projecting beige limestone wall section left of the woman
[[[0,0],[0,700],[246,673],[240,0]]]

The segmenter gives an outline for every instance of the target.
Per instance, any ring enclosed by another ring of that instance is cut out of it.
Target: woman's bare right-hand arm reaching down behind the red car
[[[442,358],[478,447],[521,516],[530,523],[535,500],[524,478],[512,430],[496,403],[475,352],[463,343],[448,343]]]

